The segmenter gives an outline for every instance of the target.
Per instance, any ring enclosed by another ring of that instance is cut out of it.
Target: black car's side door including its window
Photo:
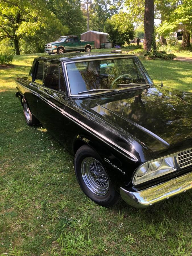
[[[38,119],[61,144],[65,145],[63,110],[67,103],[66,88],[61,65],[44,62],[43,84],[39,88]]]

